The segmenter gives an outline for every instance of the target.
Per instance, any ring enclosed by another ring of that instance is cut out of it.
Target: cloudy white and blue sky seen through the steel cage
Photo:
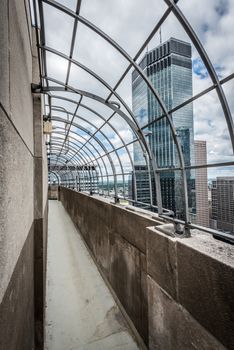
[[[61,0],[59,3],[75,10],[75,0]],[[234,72],[234,1],[233,0],[179,0],[178,6],[190,21],[193,29],[198,35],[212,64],[220,79]],[[163,0],[83,0],[81,5],[81,16],[94,23],[98,28],[107,33],[112,39],[132,57],[141,47],[157,21],[160,19],[167,6]],[[59,13],[49,5],[44,5],[46,45],[69,55],[73,20],[69,16]],[[176,37],[190,42],[178,20],[170,14],[161,28],[162,40]],[[149,43],[150,50],[159,44],[157,33]],[[145,54],[144,50],[143,54]],[[193,92],[203,91],[212,85],[209,74],[199,57],[196,49],[192,46],[193,59]],[[142,54],[142,55],[143,55]],[[139,60],[142,58],[139,57]],[[128,62],[111,47],[105,40],[96,35],[83,24],[78,24],[73,58],[81,64],[92,69],[113,87],[128,66]],[[67,61],[56,57],[52,53],[47,54],[48,75],[61,81],[65,81],[67,73]],[[102,98],[107,97],[108,90],[82,69],[71,66],[69,85],[88,90]],[[223,85],[229,107],[234,114],[234,80]],[[131,108],[131,71],[123,83],[117,89],[118,94]],[[75,94],[73,94],[75,95]],[[74,97],[77,98],[77,97]],[[111,100],[116,100],[114,97]],[[94,104],[88,98],[84,103],[98,110],[107,119],[110,111],[103,106]],[[66,106],[74,111],[74,104]],[[195,139],[207,141],[208,163],[233,161],[233,153],[230,137],[222,108],[215,91],[203,96],[193,104]],[[93,114],[87,114],[97,126],[102,120]],[[58,115],[58,114],[57,114]],[[113,118],[115,127],[123,139],[128,142],[132,138],[127,123],[121,118]],[[84,121],[81,123],[84,124]],[[94,131],[95,128],[91,130]],[[118,145],[117,135],[106,130],[107,136],[113,145]],[[118,147],[118,146],[117,146]],[[130,167],[128,155],[121,154],[121,160],[126,167]],[[221,168],[209,170],[209,178],[215,176],[232,175],[233,168]]]

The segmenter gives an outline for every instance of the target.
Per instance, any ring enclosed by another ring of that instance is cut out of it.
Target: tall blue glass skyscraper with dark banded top
[[[140,66],[158,91],[168,111],[192,97],[192,59],[189,43],[171,38],[147,52]],[[163,114],[158,101],[136,70],[132,73],[132,101],[133,113],[140,126],[150,123]],[[194,163],[192,104],[173,112],[171,118],[181,143],[185,164],[190,165]],[[145,132],[148,134],[149,145],[156,156],[158,166],[169,169],[178,166],[178,152],[167,119],[162,118],[149,125]],[[135,169],[140,168],[141,173],[147,172],[145,160],[140,156],[138,147],[138,145],[134,146]],[[135,172],[136,178],[142,176],[138,175],[137,170]],[[160,181],[163,207],[173,210],[177,217],[183,218],[184,196],[181,172],[169,170],[161,174]],[[190,191],[194,188],[194,176],[190,170],[187,171],[187,181],[189,205],[194,207],[195,199]],[[149,184],[147,181],[137,182],[140,186],[138,200],[141,200],[141,192],[144,192],[144,199],[149,200]],[[141,187],[145,187],[144,191]],[[155,193],[153,196],[156,202]]]

